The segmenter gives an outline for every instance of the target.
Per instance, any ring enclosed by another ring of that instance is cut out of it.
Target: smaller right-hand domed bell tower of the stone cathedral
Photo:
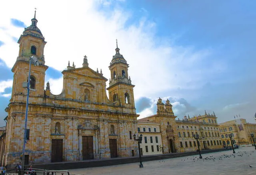
[[[132,108],[132,113],[135,113],[134,85],[132,85],[130,76],[128,76],[128,67],[129,64],[120,54],[116,40],[116,54],[113,56],[109,66],[111,74],[109,87],[107,88],[109,99],[118,106]]]

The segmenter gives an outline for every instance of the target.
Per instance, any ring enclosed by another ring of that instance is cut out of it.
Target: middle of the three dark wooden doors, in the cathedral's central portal
[[[93,159],[93,137],[82,136],[83,160]]]

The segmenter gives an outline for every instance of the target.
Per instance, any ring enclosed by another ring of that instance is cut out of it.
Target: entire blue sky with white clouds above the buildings
[[[90,68],[102,69],[109,79],[118,39],[140,118],[156,113],[160,97],[170,100],[176,119],[206,110],[214,111],[218,123],[234,117],[255,123],[255,1],[9,0],[0,6],[0,126],[7,116],[17,41],[34,8],[47,42],[45,81],[53,94],[62,91],[68,61],[82,67],[84,55]]]

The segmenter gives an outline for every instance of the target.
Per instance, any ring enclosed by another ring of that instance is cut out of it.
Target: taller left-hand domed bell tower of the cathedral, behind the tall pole
[[[31,64],[30,96],[44,96],[45,71],[48,68],[48,66],[44,65],[44,46],[46,41],[44,41],[44,36],[37,27],[37,22],[35,10],[34,18],[31,19],[31,25],[25,28],[18,40],[20,49],[17,60],[12,67],[14,79],[10,102],[24,101],[24,97],[20,96],[26,95],[25,86],[28,81],[29,60],[31,56],[38,61],[39,65],[34,66],[34,64]]]

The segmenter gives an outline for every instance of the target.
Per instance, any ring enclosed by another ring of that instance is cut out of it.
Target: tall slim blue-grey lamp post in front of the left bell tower
[[[25,145],[26,145],[26,133],[27,133],[27,120],[28,120],[28,97],[29,97],[29,90],[30,90],[30,70],[31,70],[31,63],[34,66],[38,66],[38,61],[35,56],[31,56],[29,58],[29,69],[28,69],[28,85],[27,85],[27,100],[26,100],[26,113],[25,113],[25,124],[24,124],[24,140],[23,140],[23,148],[22,148],[22,174],[24,174],[24,160],[25,160]]]

